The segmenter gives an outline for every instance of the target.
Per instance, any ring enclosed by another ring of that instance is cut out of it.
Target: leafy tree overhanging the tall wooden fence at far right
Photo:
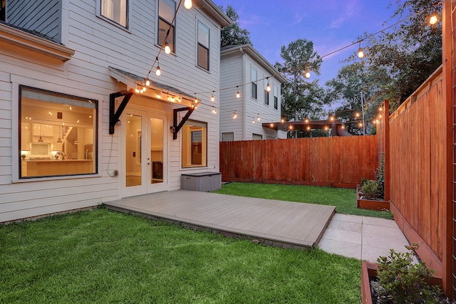
[[[433,11],[441,14],[442,2],[391,0],[390,5],[394,4],[396,9],[391,19],[405,21],[378,36],[365,33],[360,38],[364,39],[361,45],[366,65],[371,70],[385,71],[390,78],[390,83],[383,85],[377,95],[390,100],[391,108],[403,103],[442,64],[442,25],[427,24]]]

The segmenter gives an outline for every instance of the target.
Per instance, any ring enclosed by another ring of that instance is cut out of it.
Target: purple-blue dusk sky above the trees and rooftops
[[[239,24],[250,32],[253,46],[271,64],[282,62],[281,46],[298,38],[314,42],[320,55],[348,46],[364,32],[380,31],[388,25],[394,8],[390,0],[213,0],[224,9],[231,5],[239,14]],[[362,45],[361,45],[362,46]],[[358,51],[358,44],[323,58],[320,85],[335,78],[346,63],[339,63]]]

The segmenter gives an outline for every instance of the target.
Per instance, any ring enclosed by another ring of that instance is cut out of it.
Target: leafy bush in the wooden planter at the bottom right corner
[[[413,263],[418,243],[405,246],[409,252],[400,253],[390,249],[390,256],[380,256],[377,271],[379,303],[440,303],[437,295],[440,288],[430,286],[433,271],[424,262]]]

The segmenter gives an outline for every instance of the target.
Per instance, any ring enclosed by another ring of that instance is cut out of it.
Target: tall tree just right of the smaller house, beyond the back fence
[[[323,112],[323,89],[318,80],[304,77],[306,71],[320,75],[322,60],[314,51],[314,43],[298,39],[288,47],[282,46],[280,56],[284,63],[276,63],[275,67],[288,80],[281,88],[281,114],[294,120],[319,117]]]

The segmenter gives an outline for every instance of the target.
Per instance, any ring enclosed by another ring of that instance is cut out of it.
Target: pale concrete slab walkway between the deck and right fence
[[[395,221],[368,216],[334,214],[318,247],[329,253],[375,263],[390,248],[406,252],[409,245]]]

